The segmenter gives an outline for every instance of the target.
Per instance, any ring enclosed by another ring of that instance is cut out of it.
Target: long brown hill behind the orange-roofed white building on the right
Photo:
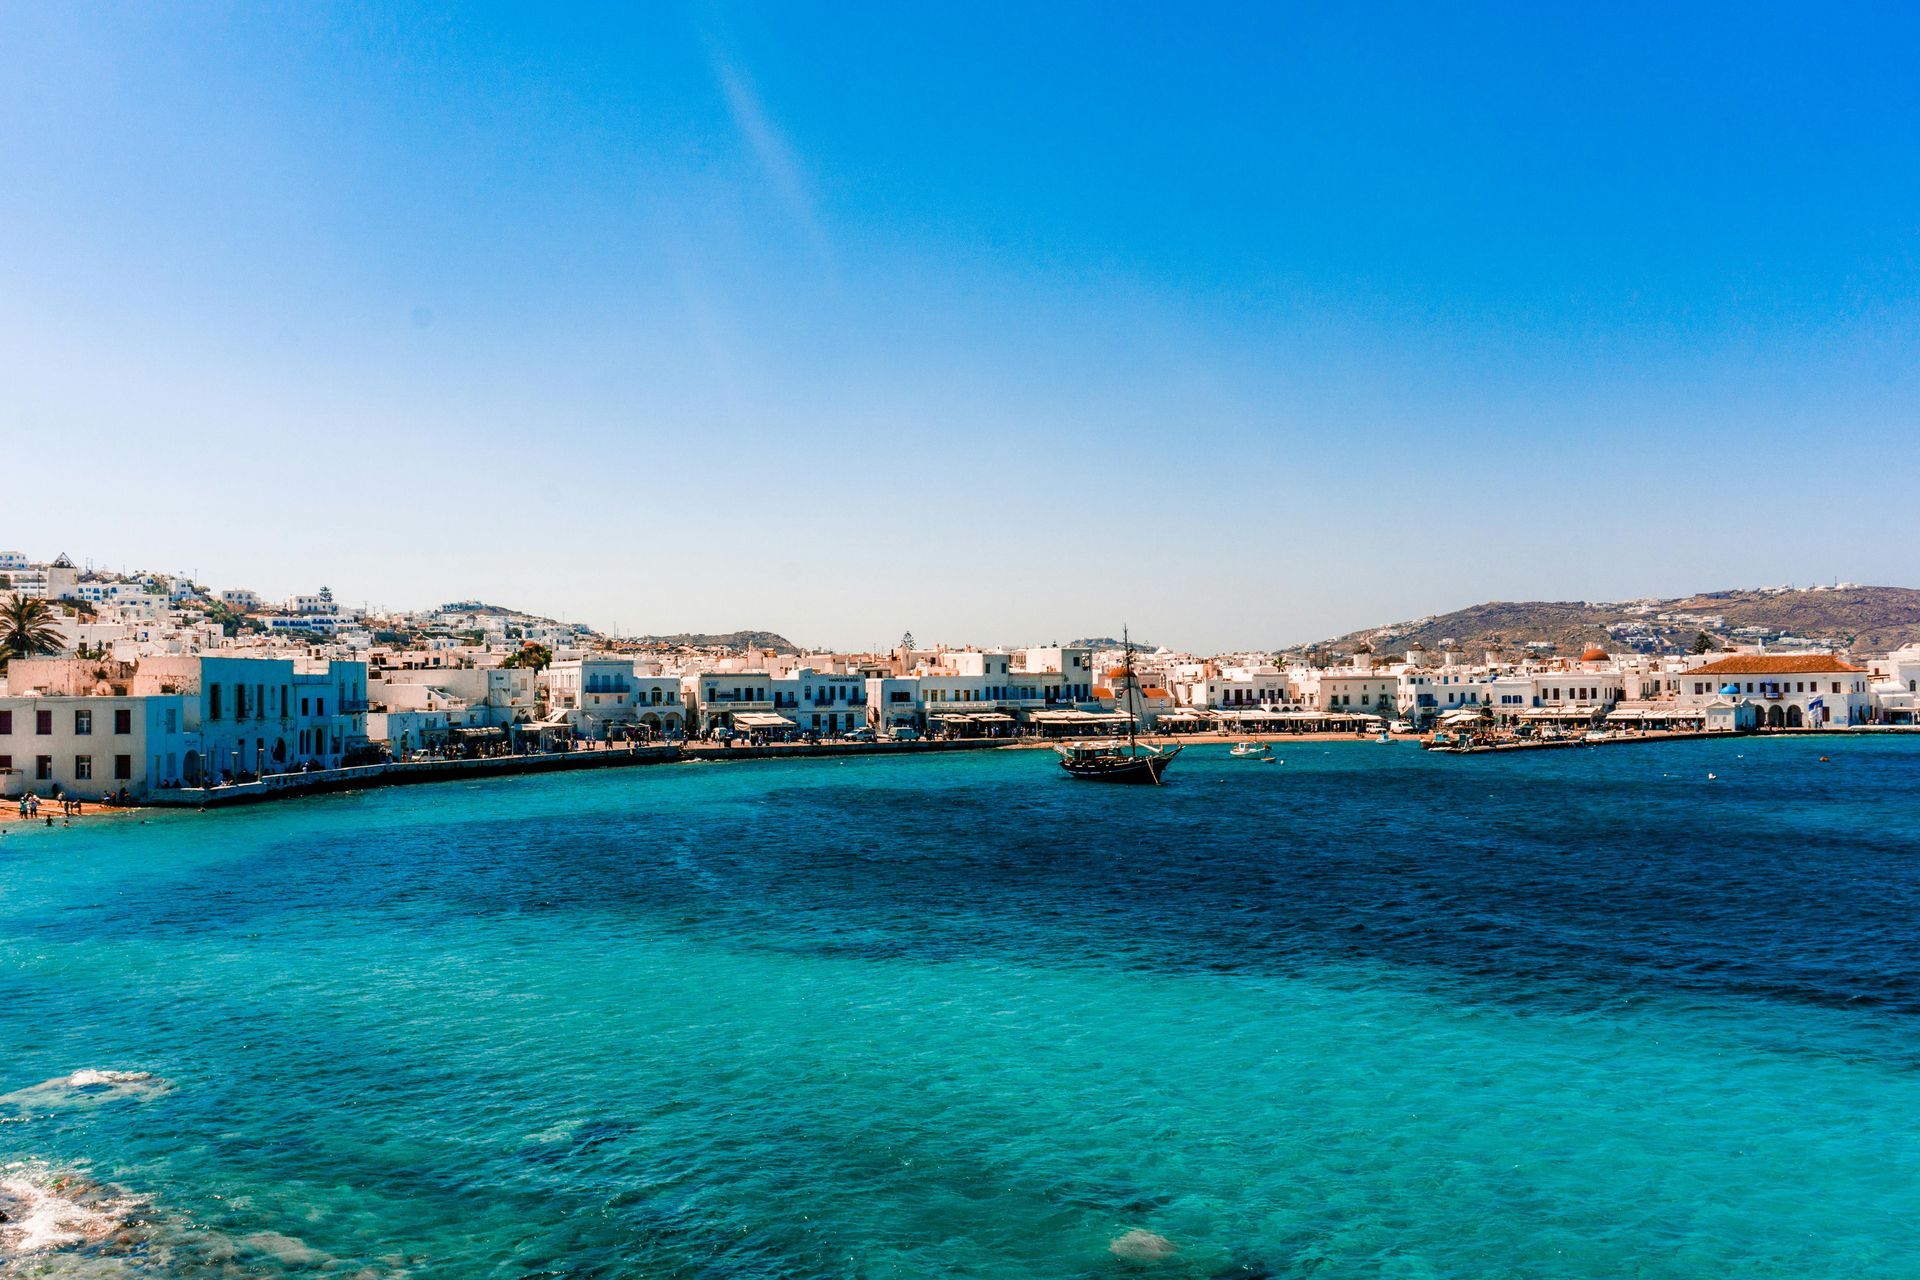
[[[1413,645],[1459,649],[1478,658],[1488,649],[1676,652],[1705,631],[1718,643],[1822,641],[1857,651],[1897,649],[1920,641],[1920,589],[1807,587],[1703,591],[1642,601],[1490,601],[1450,614],[1413,618],[1296,645],[1288,652],[1321,649],[1405,652]],[[1448,645],[1448,641],[1452,641]]]

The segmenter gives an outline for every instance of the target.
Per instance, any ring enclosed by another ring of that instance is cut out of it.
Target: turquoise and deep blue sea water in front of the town
[[[1920,1274],[1920,741],[1277,750],[15,827],[0,1274]]]

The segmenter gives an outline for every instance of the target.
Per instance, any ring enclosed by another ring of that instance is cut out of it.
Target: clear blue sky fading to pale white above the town
[[[1279,645],[1920,583],[1914,6],[0,10],[0,549]]]

